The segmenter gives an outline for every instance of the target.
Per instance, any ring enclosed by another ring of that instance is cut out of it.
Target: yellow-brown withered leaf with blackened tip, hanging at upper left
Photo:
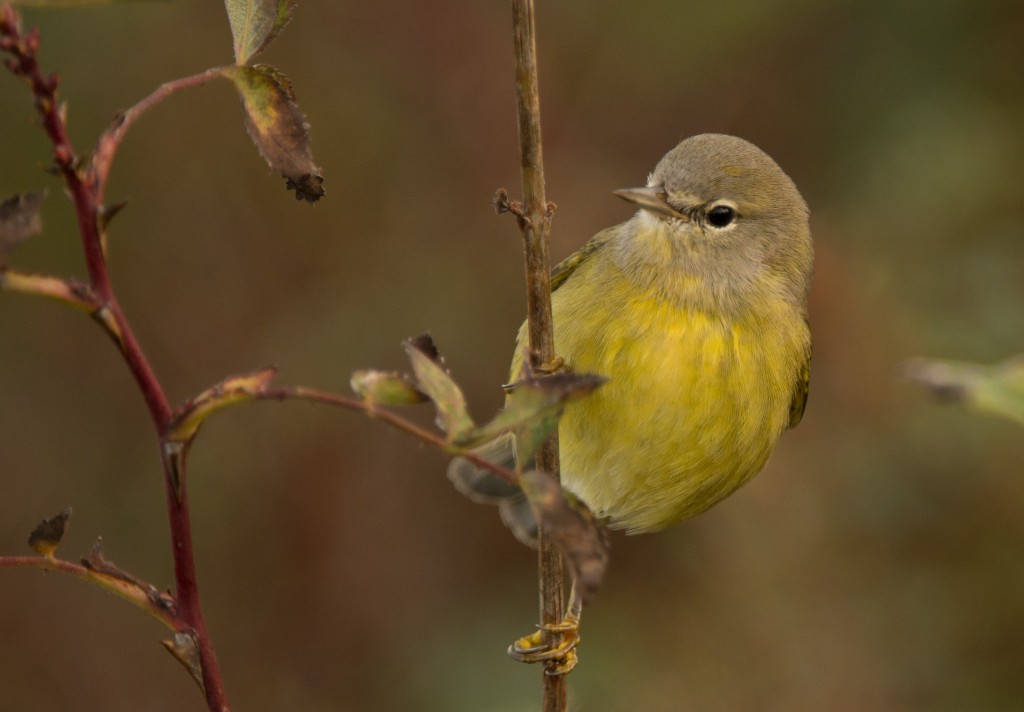
[[[296,200],[315,203],[324,197],[324,177],[313,163],[309,125],[295,101],[288,78],[267,65],[227,67],[246,112],[246,129],[270,168],[295,191]]]

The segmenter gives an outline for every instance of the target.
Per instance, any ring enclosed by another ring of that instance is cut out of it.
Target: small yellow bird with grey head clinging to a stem
[[[555,351],[573,372],[605,376],[559,423],[562,486],[630,534],[707,510],[753,477],[807,402],[813,247],[807,204],[752,143],[683,140],[638,206],[552,273]],[[523,370],[519,330],[510,381]],[[509,463],[512,438],[481,449]],[[468,461],[449,475],[500,504],[531,542],[522,493]]]

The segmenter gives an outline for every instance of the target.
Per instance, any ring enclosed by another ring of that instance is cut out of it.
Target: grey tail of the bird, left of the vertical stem
[[[515,438],[511,434],[482,445],[473,453],[496,465],[515,467]],[[526,495],[517,486],[461,457],[449,465],[449,479],[456,490],[474,502],[498,505],[502,521],[512,530],[515,538],[537,548],[537,517]]]

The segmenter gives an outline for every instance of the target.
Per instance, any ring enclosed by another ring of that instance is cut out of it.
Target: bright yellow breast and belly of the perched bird
[[[610,526],[647,532],[761,469],[788,423],[806,326],[781,301],[737,320],[615,292],[555,293],[557,353],[609,379],[561,420],[562,478]]]

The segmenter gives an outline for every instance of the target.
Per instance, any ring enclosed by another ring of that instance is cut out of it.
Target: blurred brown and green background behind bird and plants
[[[118,109],[230,61],[217,2],[26,10],[87,150]],[[1024,350],[1024,8],[1013,0],[541,3],[561,258],[679,139],[744,136],[793,176],[817,250],[811,397],[765,471],[672,531],[613,537],[574,710],[1024,707],[1024,432],[901,379],[920,354]],[[274,364],[345,391],[429,330],[478,418],[524,312],[507,2],[303,0],[261,57],[290,76],[327,198],[296,203],[226,82],[124,142],[118,294],[175,403]],[[48,186],[12,263],[82,275],[26,88],[0,76],[0,195]],[[426,410],[417,417],[429,422]],[[534,554],[444,459],[357,414],[256,404],[191,459],[207,621],[239,710],[539,707],[504,648]],[[61,553],[172,584],[141,399],[103,335],[0,296],[0,551],[74,505]],[[166,631],[59,575],[0,573],[0,709],[203,709]]]

